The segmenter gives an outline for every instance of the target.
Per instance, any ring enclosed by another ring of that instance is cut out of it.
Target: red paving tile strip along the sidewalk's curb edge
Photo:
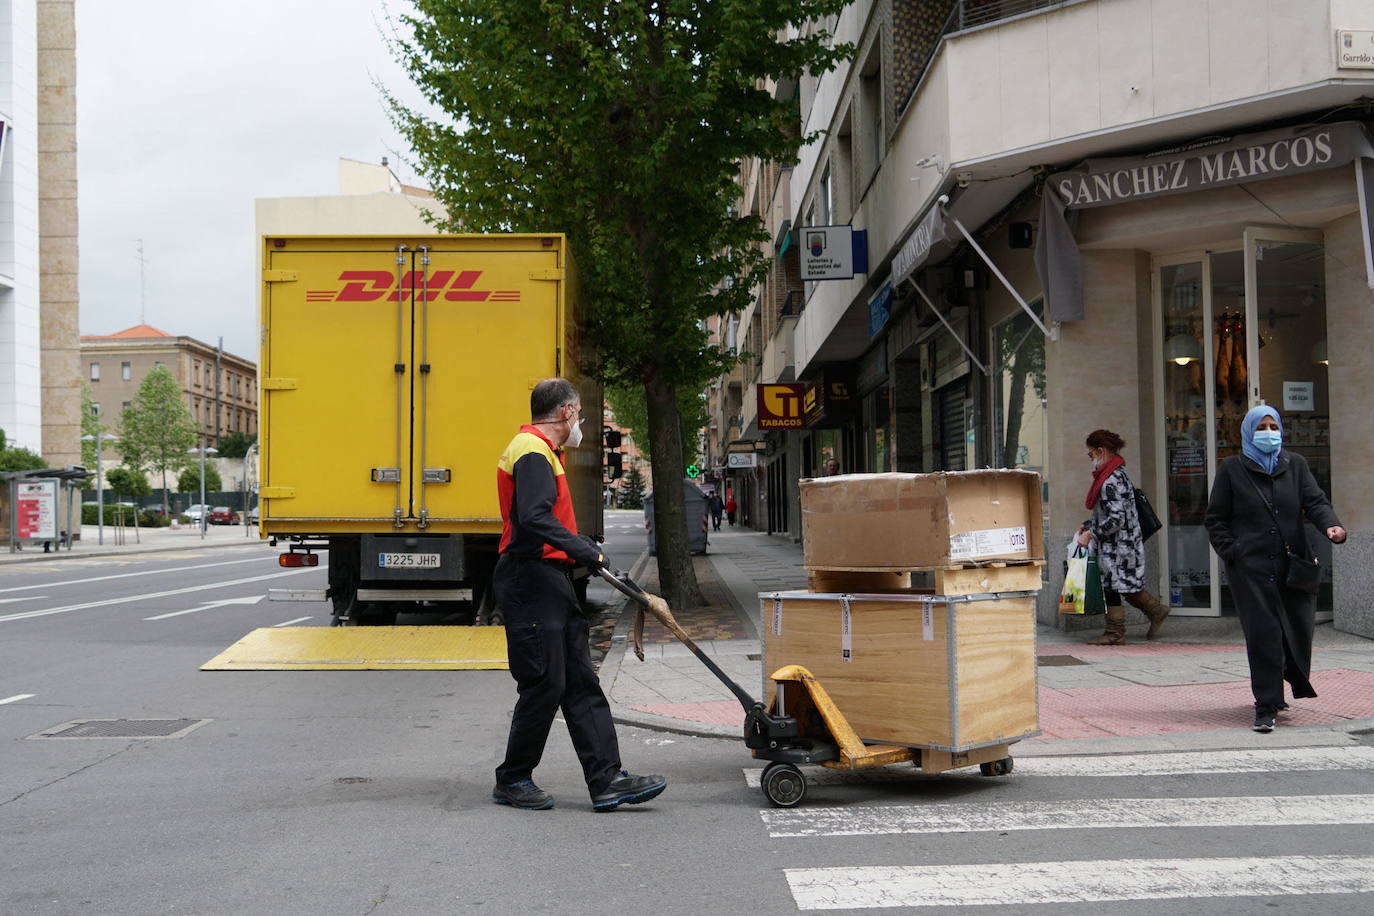
[[[1120,647],[1117,647],[1120,648]],[[1330,725],[1374,715],[1374,674],[1331,669],[1312,673],[1314,699],[1290,700],[1281,725]],[[1164,687],[1040,688],[1040,739],[1125,737],[1210,732],[1250,725],[1249,680]],[[646,703],[631,709],[692,722],[741,726],[739,703]]]

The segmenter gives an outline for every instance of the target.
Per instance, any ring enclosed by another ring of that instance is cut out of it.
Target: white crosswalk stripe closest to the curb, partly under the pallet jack
[[[1270,750],[1187,754],[1120,754],[1113,757],[1018,757],[1015,776],[1193,776],[1204,773],[1282,773],[1374,769],[1374,747],[1276,747]],[[967,770],[977,773],[977,769]],[[761,769],[746,768],[745,781],[758,788]],[[872,770],[808,769],[812,786],[853,786],[870,780],[907,780],[912,766]]]

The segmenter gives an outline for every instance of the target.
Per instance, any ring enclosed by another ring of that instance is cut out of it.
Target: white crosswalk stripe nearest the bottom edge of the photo
[[[798,909],[1028,906],[1374,891],[1374,856],[789,868]]]

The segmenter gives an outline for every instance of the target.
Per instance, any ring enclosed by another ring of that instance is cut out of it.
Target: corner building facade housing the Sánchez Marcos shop
[[[725,464],[731,441],[763,442],[739,474],[753,526],[800,537],[794,478],[834,455],[844,472],[1037,470],[1046,542],[1065,544],[1083,439],[1106,427],[1165,522],[1149,586],[1226,615],[1201,516],[1264,402],[1351,531],[1334,551],[1314,534],[1320,607],[1374,636],[1374,5],[872,0],[824,25],[857,54],[776,88],[824,135],[783,218],[760,213],[779,254],[800,243],[802,276],[808,228],[861,232],[867,262],[802,284],[753,390],[743,367],[716,449]],[[761,428],[763,398],[790,393],[818,409]]]

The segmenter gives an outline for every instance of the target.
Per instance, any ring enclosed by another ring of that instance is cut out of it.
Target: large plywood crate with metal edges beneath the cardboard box
[[[769,703],[769,676],[802,665],[867,742],[966,751],[1039,731],[1033,593],[760,597]]]

